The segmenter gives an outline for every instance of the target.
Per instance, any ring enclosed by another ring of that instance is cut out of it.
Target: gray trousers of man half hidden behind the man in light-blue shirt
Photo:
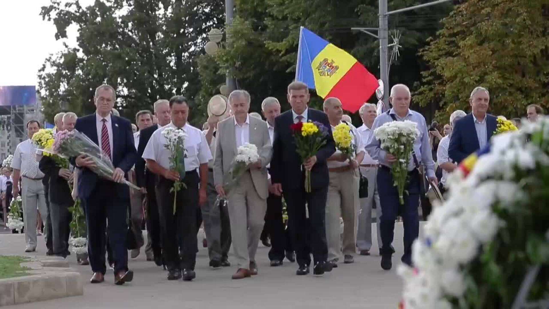
[[[377,168],[361,167],[360,172],[368,178],[368,197],[360,199],[360,212],[358,214],[358,233],[356,234],[356,246],[358,250],[370,250],[372,247],[372,206],[376,203],[376,226],[378,246],[382,246],[381,232],[379,231],[379,218],[381,218],[381,205],[377,190]]]

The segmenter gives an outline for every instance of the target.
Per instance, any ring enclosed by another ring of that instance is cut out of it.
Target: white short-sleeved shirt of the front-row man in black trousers
[[[176,128],[173,123],[165,125],[162,128],[154,131],[153,135],[150,136],[150,140],[143,151],[143,159],[151,159],[160,164],[161,167],[165,169],[170,169],[170,157],[171,152],[166,149],[166,139],[162,132],[166,128]],[[183,142],[183,147],[185,148],[185,170],[190,172],[197,169],[200,164],[208,163],[212,159],[210,148],[208,142],[206,141],[206,136],[202,134],[197,128],[189,125],[188,123],[183,126],[183,131],[187,134]]]

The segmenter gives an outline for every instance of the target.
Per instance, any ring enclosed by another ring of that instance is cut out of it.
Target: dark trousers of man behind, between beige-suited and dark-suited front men
[[[264,231],[271,238],[269,260],[284,260],[284,252],[290,250],[288,250],[288,237],[282,220],[282,196],[269,194],[267,197]]]

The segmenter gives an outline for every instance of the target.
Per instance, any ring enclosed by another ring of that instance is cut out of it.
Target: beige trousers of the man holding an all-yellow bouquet
[[[356,253],[356,232],[358,226],[358,170],[330,172],[328,200],[326,202],[326,240],[328,261]],[[340,220],[343,219],[343,246],[341,245]]]

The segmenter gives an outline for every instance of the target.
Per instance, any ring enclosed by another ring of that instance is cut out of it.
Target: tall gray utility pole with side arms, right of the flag
[[[434,4],[439,4],[443,2],[449,2],[452,0],[437,0],[429,3],[414,5],[413,7],[397,9],[388,12],[387,11],[387,0],[379,0],[379,28],[363,28],[363,27],[353,27],[351,30],[360,30],[365,32],[368,35],[371,35],[379,40],[379,79],[383,81],[383,104],[385,105],[385,110],[389,109],[389,64],[388,64],[388,48],[389,48],[389,15],[402,13],[409,10],[414,10],[418,8],[429,7]],[[370,30],[377,30],[378,35],[372,34]]]

